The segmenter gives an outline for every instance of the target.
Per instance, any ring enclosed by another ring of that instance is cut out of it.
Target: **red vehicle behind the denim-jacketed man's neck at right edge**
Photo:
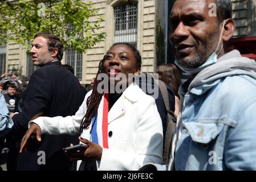
[[[256,60],[256,36],[229,40],[228,51],[237,49],[242,56]]]

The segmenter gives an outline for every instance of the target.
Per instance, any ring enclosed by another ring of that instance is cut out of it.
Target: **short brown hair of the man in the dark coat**
[[[59,61],[61,61],[63,57],[62,41],[57,36],[52,35],[48,32],[40,32],[34,36],[34,39],[38,36],[42,36],[43,38],[47,39],[49,51],[52,51],[54,48],[58,48],[58,53],[56,57],[58,58]]]

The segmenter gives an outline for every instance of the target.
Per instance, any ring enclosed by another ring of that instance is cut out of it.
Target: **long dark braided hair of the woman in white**
[[[112,47],[117,46],[117,45],[125,45],[125,46],[128,46],[129,48],[131,48],[131,50],[135,54],[136,66],[137,66],[137,68],[141,68],[141,56],[140,56],[139,51],[135,47],[133,47],[129,43],[115,43],[111,46],[111,48],[109,48],[109,50],[112,49]],[[88,97],[88,99],[86,101],[87,111],[86,111],[86,114],[84,115],[81,125],[80,125],[80,133],[83,132],[83,129],[88,128],[91,124],[92,118],[97,116],[97,109],[99,108],[100,101],[103,96],[103,93],[97,92],[97,86],[103,80],[98,80],[97,77],[98,77],[98,75],[100,75],[100,73],[105,73],[104,62],[105,62],[105,56],[99,63],[99,69],[97,71],[97,75],[96,75],[96,78],[94,81],[94,87],[92,89],[92,94],[91,94],[91,96]],[[92,128],[94,127],[94,124],[95,124],[95,121],[94,121],[94,123],[92,123]],[[91,131],[92,131],[92,128],[91,128]],[[91,133],[91,131],[90,131],[90,133]]]

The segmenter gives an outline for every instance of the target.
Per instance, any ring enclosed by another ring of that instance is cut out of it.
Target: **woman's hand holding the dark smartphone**
[[[87,144],[88,148],[84,151],[84,156],[90,159],[101,160],[103,148],[99,144],[91,142],[87,139],[79,137],[79,140],[84,144]]]

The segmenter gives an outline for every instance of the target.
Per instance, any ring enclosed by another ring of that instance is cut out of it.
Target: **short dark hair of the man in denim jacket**
[[[232,18],[232,4],[230,0],[216,0],[218,22]]]

